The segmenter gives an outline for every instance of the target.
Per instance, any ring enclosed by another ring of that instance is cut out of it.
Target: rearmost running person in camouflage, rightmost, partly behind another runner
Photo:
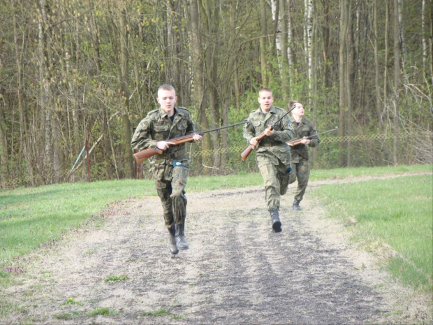
[[[293,210],[301,210],[299,203],[304,197],[305,189],[307,189],[308,178],[309,178],[309,152],[308,147],[316,147],[321,140],[318,136],[314,136],[317,133],[313,123],[304,118],[304,106],[298,101],[290,101],[288,108],[295,108],[292,110],[293,124],[295,124],[296,138],[304,138],[312,136],[309,139],[302,139],[300,145],[294,145],[291,147],[292,154],[292,168],[293,171],[290,176],[290,184],[295,182],[298,178],[298,189],[296,189],[295,200],[293,201]]]

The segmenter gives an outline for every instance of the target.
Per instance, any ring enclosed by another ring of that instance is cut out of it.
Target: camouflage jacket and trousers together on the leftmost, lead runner
[[[141,120],[133,135],[134,149],[156,148],[157,141],[187,136],[194,133],[193,121],[188,110],[175,106],[175,117],[170,117],[159,108],[152,110]],[[150,161],[156,192],[163,206],[166,226],[184,225],[186,217],[185,186],[189,171],[189,155],[186,144],[173,145],[163,154],[155,154]]]

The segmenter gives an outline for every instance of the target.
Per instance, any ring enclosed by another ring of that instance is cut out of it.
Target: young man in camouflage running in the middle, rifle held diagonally
[[[256,160],[265,183],[265,201],[271,215],[272,229],[281,231],[279,218],[280,196],[286,194],[291,164],[290,147],[287,141],[295,136],[295,130],[288,115],[273,130],[267,129],[277,122],[286,112],[282,108],[272,106],[274,97],[272,90],[260,89],[258,92],[260,108],[253,110],[244,125],[244,138],[256,147]],[[257,137],[265,131],[265,138],[258,143]]]

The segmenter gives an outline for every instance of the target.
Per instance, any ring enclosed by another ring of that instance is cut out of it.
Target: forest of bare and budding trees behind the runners
[[[432,0],[0,1],[0,189],[148,178],[135,126],[177,91],[198,131],[270,87],[318,132],[314,168],[433,161]],[[188,146],[190,175],[256,171],[242,127]]]

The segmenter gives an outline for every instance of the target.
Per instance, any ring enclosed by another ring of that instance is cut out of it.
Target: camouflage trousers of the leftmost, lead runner
[[[179,166],[173,168],[173,179],[156,180],[155,187],[161,199],[164,222],[170,227],[175,224],[185,224],[186,217],[186,196],[185,186],[187,178],[187,168]]]

